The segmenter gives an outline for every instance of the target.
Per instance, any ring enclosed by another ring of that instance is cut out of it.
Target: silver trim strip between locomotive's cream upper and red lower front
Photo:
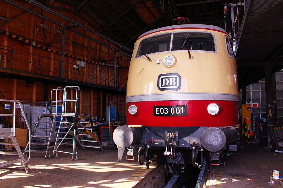
[[[175,100],[217,100],[217,101],[237,101],[239,95],[229,93],[154,93],[143,95],[131,95],[126,97],[128,102],[142,101],[175,101]]]

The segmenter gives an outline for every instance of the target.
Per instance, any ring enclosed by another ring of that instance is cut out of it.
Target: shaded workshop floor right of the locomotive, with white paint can
[[[283,130],[275,130],[277,131],[282,138]],[[268,181],[273,170],[278,170],[282,176],[283,153],[271,152],[266,146],[259,146],[255,141],[248,143],[243,138],[241,143],[243,149],[228,157],[225,166],[213,166],[213,173],[206,183],[207,188],[272,187]]]

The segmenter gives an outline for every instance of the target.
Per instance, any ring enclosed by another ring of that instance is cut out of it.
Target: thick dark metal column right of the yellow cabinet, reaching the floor
[[[272,86],[272,67],[266,65],[265,72],[265,96],[267,113],[267,147],[270,149],[271,140],[274,139],[274,119],[273,119],[273,86]]]

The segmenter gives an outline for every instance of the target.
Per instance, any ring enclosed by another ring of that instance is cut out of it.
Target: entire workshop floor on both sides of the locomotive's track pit
[[[277,131],[276,131],[277,132]],[[283,130],[278,130],[283,137]],[[277,138],[277,137],[276,137]],[[225,166],[214,166],[207,188],[270,187],[273,170],[283,174],[283,153],[271,152],[254,141],[241,140],[243,149],[227,158]],[[71,148],[66,148],[71,151]],[[50,151],[52,153],[52,151]],[[70,154],[59,153],[59,157],[44,159],[42,153],[32,153],[26,174],[20,163],[0,169],[0,187],[44,188],[44,187],[132,187],[137,177],[143,177],[150,170],[135,161],[117,161],[117,150],[78,150],[79,160],[72,161]],[[16,159],[15,156],[0,155],[0,162]],[[252,181],[248,180],[251,179]]]

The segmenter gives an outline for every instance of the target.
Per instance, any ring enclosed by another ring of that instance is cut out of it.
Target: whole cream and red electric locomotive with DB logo
[[[219,156],[240,139],[232,47],[227,32],[212,25],[141,35],[129,67],[126,126],[113,133],[118,161],[127,148],[128,154],[138,151],[139,164],[148,168],[155,156],[169,173],[182,172],[185,164],[202,168],[204,157],[209,169],[219,165]]]

